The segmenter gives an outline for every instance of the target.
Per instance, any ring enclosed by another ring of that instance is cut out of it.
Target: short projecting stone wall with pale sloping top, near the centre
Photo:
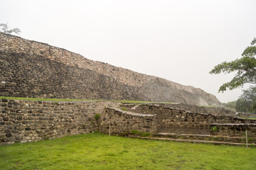
[[[119,108],[105,108],[102,113],[100,132],[119,134],[122,132],[156,132],[155,115],[132,113]]]

